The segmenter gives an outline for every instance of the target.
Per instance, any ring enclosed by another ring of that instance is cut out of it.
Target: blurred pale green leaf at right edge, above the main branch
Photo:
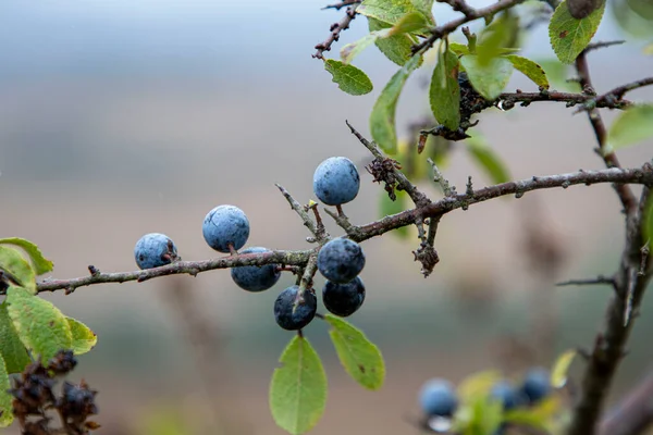
[[[633,105],[617,116],[607,133],[609,150],[653,137],[653,104]]]

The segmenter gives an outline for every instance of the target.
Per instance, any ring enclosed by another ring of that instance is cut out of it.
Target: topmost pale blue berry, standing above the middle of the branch
[[[313,174],[313,191],[328,206],[341,206],[358,195],[360,176],[356,165],[347,158],[324,160]]]

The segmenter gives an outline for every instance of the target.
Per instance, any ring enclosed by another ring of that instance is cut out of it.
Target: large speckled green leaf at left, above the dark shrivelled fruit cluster
[[[65,316],[49,301],[21,287],[7,290],[8,311],[23,345],[41,361],[71,349],[73,336]]]

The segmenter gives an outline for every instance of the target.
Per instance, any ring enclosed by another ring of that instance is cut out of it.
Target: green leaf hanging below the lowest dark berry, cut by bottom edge
[[[326,374],[308,339],[295,336],[283,351],[270,384],[270,410],[293,435],[316,425],[326,406]]]

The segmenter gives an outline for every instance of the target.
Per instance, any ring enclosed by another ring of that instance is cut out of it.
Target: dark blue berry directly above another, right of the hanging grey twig
[[[365,266],[365,253],[356,241],[336,238],[326,243],[318,253],[318,270],[336,284],[354,279]]]

